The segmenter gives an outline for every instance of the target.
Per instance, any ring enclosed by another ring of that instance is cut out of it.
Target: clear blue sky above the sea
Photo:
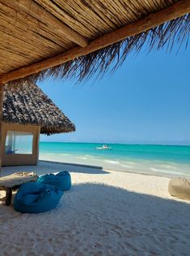
[[[189,59],[189,47],[153,51],[103,79],[39,82],[77,130],[40,141],[190,145]]]

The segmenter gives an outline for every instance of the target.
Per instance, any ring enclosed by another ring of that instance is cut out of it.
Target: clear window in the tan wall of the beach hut
[[[32,154],[32,132],[6,132],[6,154]]]

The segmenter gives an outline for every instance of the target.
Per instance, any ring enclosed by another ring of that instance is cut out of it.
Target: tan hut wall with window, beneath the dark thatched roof
[[[40,126],[2,123],[2,166],[36,165]]]

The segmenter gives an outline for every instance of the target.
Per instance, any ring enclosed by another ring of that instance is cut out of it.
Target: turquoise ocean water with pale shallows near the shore
[[[190,145],[109,144],[112,150],[96,150],[99,146],[102,145],[40,142],[40,159],[116,171],[190,177]]]

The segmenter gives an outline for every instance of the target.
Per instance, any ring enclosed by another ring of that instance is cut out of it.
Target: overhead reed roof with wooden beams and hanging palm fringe
[[[187,44],[189,12],[189,0],[0,0],[0,82],[82,80],[144,45]]]

